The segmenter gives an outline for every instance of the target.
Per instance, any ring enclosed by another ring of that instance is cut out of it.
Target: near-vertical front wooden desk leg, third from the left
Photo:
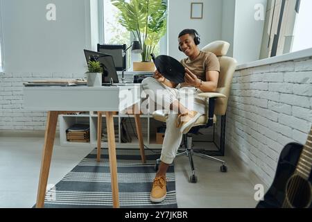
[[[106,127],[108,139],[108,153],[110,157],[110,175],[112,182],[112,200],[113,207],[119,207],[119,189],[117,180],[117,161],[116,161],[116,144],[114,133],[114,119],[112,112],[105,112],[106,114]]]

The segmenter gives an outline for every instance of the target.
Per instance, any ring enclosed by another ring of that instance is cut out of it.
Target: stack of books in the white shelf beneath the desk
[[[87,124],[74,124],[66,130],[68,142],[90,142],[90,127]]]

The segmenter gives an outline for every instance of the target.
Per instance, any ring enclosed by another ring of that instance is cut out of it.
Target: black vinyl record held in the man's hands
[[[157,56],[155,67],[166,79],[173,83],[184,83],[185,69],[183,65],[171,56]]]

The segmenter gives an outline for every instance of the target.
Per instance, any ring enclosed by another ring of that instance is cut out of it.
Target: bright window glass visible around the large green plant
[[[125,0],[129,2],[130,0]],[[112,5],[111,0],[103,0],[103,43],[105,44],[126,44],[127,47],[130,46],[133,35],[127,31],[118,22],[119,10]],[[160,53],[166,54],[166,35],[162,37],[159,44],[154,49],[155,56]],[[133,60],[141,60],[141,55],[136,56],[132,54],[130,49],[127,51],[127,68],[129,69],[132,64],[131,56],[135,56]]]

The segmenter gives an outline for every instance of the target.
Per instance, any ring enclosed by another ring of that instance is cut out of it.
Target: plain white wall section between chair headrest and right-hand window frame
[[[261,3],[266,12],[267,0],[235,1],[233,56],[239,64],[259,60],[264,20],[254,19],[257,3]]]

